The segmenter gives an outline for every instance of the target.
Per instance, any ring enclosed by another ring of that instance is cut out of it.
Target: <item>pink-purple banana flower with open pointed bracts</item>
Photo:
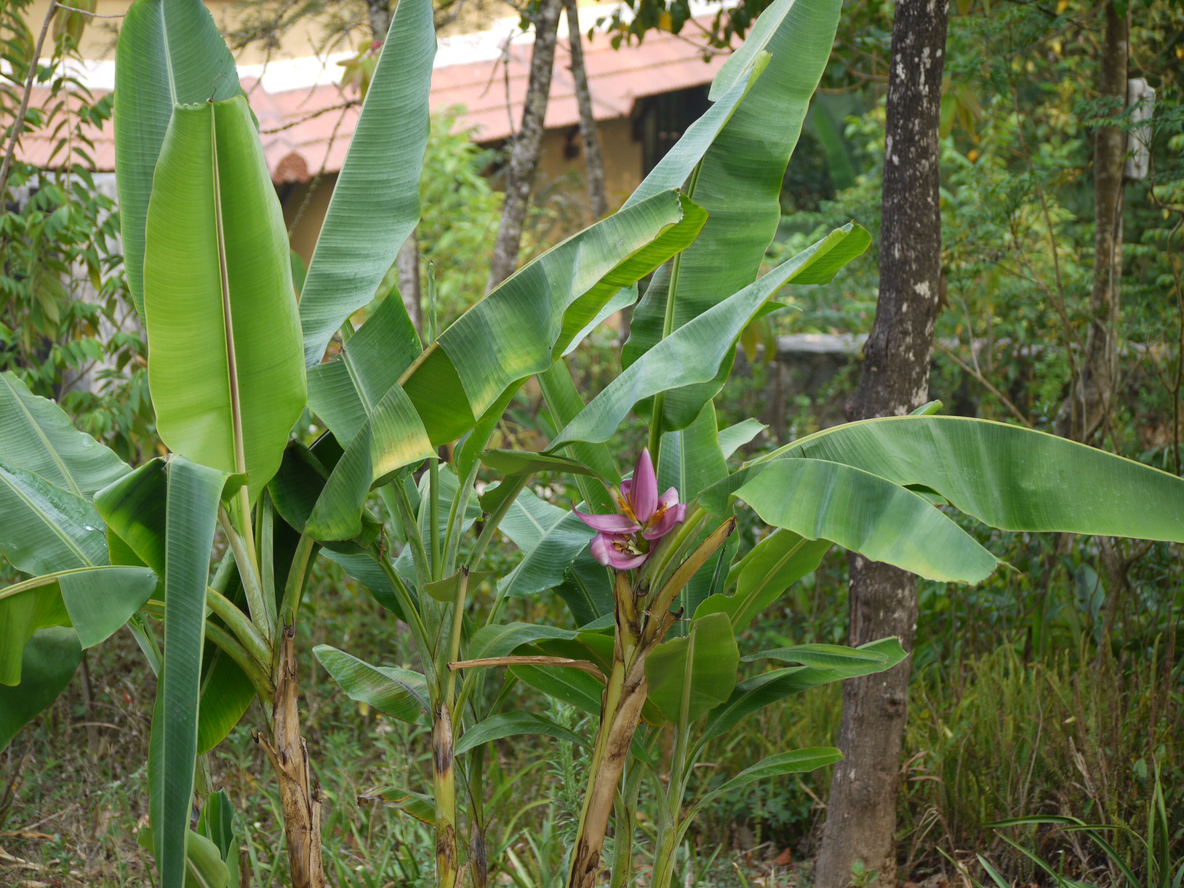
[[[597,532],[590,545],[592,556],[618,571],[631,571],[645,564],[651,543],[687,519],[687,504],[678,502],[675,488],[658,496],[649,448],[643,448],[637,457],[633,477],[620,482],[617,506],[620,510],[612,515],[577,511],[575,516]]]

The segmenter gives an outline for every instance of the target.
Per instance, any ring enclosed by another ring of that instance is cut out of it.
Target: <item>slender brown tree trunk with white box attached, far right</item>
[[[1107,116],[1122,112],[1127,98],[1130,31],[1125,15],[1106,2],[1098,91]],[[1106,424],[1118,387],[1118,320],[1122,275],[1122,174],[1125,137],[1120,127],[1094,134],[1094,284],[1089,292],[1089,333],[1081,375],[1056,417],[1056,432],[1088,443]]]

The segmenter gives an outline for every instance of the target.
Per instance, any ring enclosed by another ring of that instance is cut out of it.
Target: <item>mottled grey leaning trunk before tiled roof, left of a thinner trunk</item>
[[[487,291],[514,274],[517,266],[522,225],[526,221],[530,189],[534,187],[539,155],[542,152],[542,126],[547,116],[547,99],[551,97],[551,73],[555,64],[560,6],[561,0],[542,0],[539,17],[534,20],[530,79],[522,109],[522,126],[514,137],[514,147],[510,150],[510,165],[506,176],[506,202],[502,205],[502,223],[497,229],[497,240],[494,243]]]

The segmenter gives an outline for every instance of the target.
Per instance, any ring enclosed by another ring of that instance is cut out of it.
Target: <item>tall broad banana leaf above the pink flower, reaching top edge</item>
[[[709,219],[680,259],[675,329],[757,279],[780,220],[785,168],[830,58],[841,7],[839,0],[777,0],[758,19],[757,39],[751,45],[745,41],[738,58],[718,75],[712,92],[722,104],[767,59],[767,67],[702,155],[691,197]],[[818,266],[798,283],[829,281],[836,270],[823,274],[828,270]],[[638,303],[622,356],[624,366],[661,339],[669,281],[669,269],[662,269]],[[710,385],[668,393],[667,427],[678,429],[694,419],[722,386],[723,375]]]

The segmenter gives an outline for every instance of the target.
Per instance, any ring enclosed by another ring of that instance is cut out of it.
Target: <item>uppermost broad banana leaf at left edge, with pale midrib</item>
[[[0,458],[83,498],[128,472],[115,451],[12,373],[0,373]]]

